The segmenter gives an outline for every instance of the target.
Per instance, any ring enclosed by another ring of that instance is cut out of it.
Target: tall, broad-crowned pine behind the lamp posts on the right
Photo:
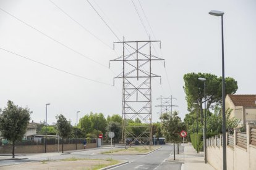
[[[199,81],[198,78],[206,79],[206,88],[204,97],[203,82]],[[183,77],[185,85],[183,87],[188,110],[191,111],[193,108],[193,103],[198,104],[200,108],[200,119],[201,124],[203,124],[203,102],[207,102],[207,110],[213,103],[221,103],[222,101],[222,78],[216,75],[211,75],[210,73],[187,73]],[[234,78],[225,78],[226,83],[226,94],[234,94],[237,91],[237,81]]]

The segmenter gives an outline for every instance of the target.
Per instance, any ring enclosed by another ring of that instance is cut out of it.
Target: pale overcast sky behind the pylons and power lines
[[[0,108],[12,100],[15,105],[30,108],[31,118],[39,122],[45,119],[45,104],[51,103],[49,124],[56,122],[58,114],[75,124],[78,110],[79,117],[90,111],[121,115],[122,83],[111,85],[122,65],[113,63],[111,69],[108,65],[109,60],[122,54],[122,47],[116,46],[113,51],[113,41],[118,41],[116,36],[148,40],[150,34],[151,39],[161,40],[161,50],[156,44],[155,55],[166,60],[166,68],[163,62],[152,66],[153,73],[162,76],[161,85],[159,79],[152,82],[153,121],[159,121],[156,112],[160,108],[154,106],[160,104],[156,100],[160,95],[177,99],[173,104],[179,105],[175,109],[183,119],[187,113],[183,75],[202,72],[221,76],[221,18],[209,15],[212,9],[225,13],[226,76],[237,80],[237,94],[256,94],[254,0],[90,0],[116,36],[86,0],[51,1],[0,0]]]

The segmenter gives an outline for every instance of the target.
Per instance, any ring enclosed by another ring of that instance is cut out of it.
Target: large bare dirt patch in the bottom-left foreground
[[[100,169],[106,166],[117,164],[115,160],[61,160],[61,161],[41,161],[36,163],[22,163],[11,166],[1,166],[5,169]]]

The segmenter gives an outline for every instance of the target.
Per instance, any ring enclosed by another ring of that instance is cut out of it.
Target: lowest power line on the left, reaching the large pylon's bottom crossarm
[[[38,62],[38,61],[36,61],[36,60],[30,59],[30,58],[25,57],[25,56],[23,56],[23,55],[17,54],[17,53],[12,52],[12,51],[9,51],[9,50],[4,49],[4,48],[2,48],[2,47],[0,47],[0,49],[1,49],[2,51],[6,51],[6,52],[9,52],[9,53],[14,54],[14,55],[16,55],[16,56],[22,57],[23,59],[30,60],[31,62],[35,62],[35,63],[38,63],[38,64],[43,65],[43,66],[45,66],[45,67],[48,67],[48,68],[52,68],[52,69],[54,69],[54,70],[61,71],[62,73],[67,73],[67,74],[69,74],[69,75],[76,76],[76,77],[78,77],[78,78],[87,79],[87,80],[93,81],[93,82],[95,82],[95,83],[100,83],[100,84],[106,84],[106,85],[109,85],[109,86],[113,86],[112,84],[104,83],[104,82],[101,82],[101,81],[98,81],[98,80],[95,80],[95,79],[86,78],[86,77],[84,77],[84,76],[80,76],[80,75],[77,75],[77,74],[74,74],[74,73],[70,73],[69,71],[61,70],[61,69],[56,68],[56,67],[53,67],[53,66],[51,66],[51,65],[47,65],[47,64],[45,64],[45,63]]]

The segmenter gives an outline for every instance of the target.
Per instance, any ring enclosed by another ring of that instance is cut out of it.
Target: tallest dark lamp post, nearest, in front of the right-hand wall
[[[224,12],[218,10],[211,10],[210,15],[217,17],[221,16],[221,43],[222,43],[222,131],[223,131],[223,170],[227,169],[226,162],[226,115],[225,115],[225,75],[224,75],[224,39],[223,39],[223,15]]]

